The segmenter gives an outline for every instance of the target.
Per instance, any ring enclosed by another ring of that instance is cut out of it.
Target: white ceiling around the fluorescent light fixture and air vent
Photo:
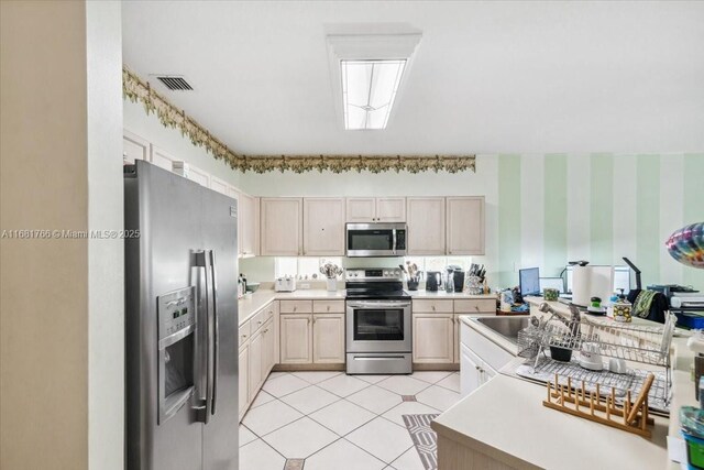
[[[123,2],[124,63],[238,152],[704,150],[704,2]],[[422,32],[385,131],[344,131],[326,28]],[[162,90],[165,88],[161,87]]]

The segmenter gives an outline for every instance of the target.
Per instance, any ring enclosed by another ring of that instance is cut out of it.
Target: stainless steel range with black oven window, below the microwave
[[[346,372],[413,372],[410,296],[399,269],[350,269],[346,287]]]

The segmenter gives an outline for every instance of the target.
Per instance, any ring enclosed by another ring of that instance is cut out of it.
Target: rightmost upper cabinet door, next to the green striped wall
[[[484,254],[484,197],[448,197],[448,254]]]

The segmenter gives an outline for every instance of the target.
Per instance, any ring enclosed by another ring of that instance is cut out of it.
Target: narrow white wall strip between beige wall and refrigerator
[[[122,8],[86,2],[88,229],[122,230]],[[88,468],[122,470],[124,243],[88,240]]]

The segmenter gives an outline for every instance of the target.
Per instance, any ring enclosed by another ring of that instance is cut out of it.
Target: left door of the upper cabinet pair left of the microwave
[[[262,255],[298,256],[301,253],[302,200],[262,198]]]

